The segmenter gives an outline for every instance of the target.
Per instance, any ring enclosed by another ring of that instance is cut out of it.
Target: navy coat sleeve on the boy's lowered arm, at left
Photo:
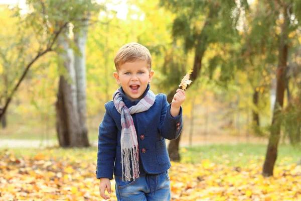
[[[99,126],[96,178],[113,179],[117,145],[117,127],[111,116],[110,107],[105,104],[106,112]]]

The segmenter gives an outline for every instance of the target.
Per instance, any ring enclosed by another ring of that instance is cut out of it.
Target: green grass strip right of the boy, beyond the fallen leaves
[[[209,159],[217,164],[246,167],[252,162],[263,164],[267,146],[264,144],[220,144],[183,147],[180,149],[181,163],[200,163]],[[297,162],[301,148],[290,145],[278,146],[278,161],[286,165]]]

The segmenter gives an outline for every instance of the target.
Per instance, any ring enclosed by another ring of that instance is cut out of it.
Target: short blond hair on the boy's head
[[[114,58],[116,70],[118,70],[122,64],[136,60],[146,61],[148,70],[152,69],[152,56],[148,49],[138,43],[127,43],[116,53]]]

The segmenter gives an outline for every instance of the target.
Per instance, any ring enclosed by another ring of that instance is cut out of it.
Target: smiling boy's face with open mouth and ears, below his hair
[[[113,75],[117,83],[121,84],[126,96],[137,100],[142,98],[147,83],[152,81],[154,70],[148,70],[146,61],[137,60],[120,65]]]

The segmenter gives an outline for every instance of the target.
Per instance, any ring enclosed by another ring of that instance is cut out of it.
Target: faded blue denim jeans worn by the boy
[[[169,201],[171,183],[168,171],[161,174],[146,174],[135,180],[122,181],[115,176],[118,201]]]

